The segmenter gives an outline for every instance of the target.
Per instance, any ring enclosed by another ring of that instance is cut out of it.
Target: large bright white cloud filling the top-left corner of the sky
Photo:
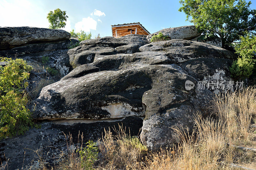
[[[49,27],[40,1],[0,0],[1,26]]]

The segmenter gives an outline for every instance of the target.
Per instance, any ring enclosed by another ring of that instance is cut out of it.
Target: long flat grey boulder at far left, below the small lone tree
[[[70,33],[36,27],[0,27],[0,50],[12,49],[17,46],[35,43],[68,40]]]

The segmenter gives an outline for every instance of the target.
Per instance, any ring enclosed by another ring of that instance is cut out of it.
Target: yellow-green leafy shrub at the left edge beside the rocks
[[[2,58],[8,64],[0,66],[0,139],[23,134],[33,125],[31,112],[27,108],[29,71],[32,70],[23,59]]]

